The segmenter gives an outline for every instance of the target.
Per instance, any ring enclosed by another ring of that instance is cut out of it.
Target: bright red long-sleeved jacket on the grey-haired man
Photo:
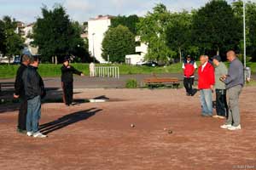
[[[214,67],[208,62],[203,71],[201,68],[202,65],[198,68],[198,88],[209,89],[215,83]]]

